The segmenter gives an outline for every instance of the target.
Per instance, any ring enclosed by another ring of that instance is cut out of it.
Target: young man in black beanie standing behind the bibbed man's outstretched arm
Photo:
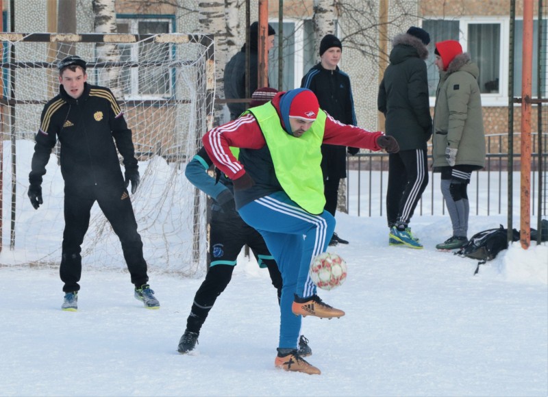
[[[343,44],[327,34],[320,43],[321,62],[306,73],[301,81],[302,88],[308,88],[318,98],[320,107],[335,120],[347,125],[357,125],[350,77],[338,68]],[[360,149],[332,144],[321,145],[321,169],[325,194],[325,211],[335,216],[340,179],[347,177],[346,153],[356,155]],[[333,233],[330,246],[348,244],[347,240]]]

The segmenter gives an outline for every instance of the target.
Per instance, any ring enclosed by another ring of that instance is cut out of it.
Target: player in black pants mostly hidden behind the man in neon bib
[[[250,107],[263,105],[273,99],[277,90],[274,88],[258,88],[251,99]],[[269,270],[272,285],[277,290],[277,298],[282,294],[282,274],[274,261],[269,248],[262,236],[247,225],[236,212],[234,203],[234,188],[232,181],[223,173],[217,172],[217,178],[212,178],[208,170],[212,161],[203,147],[187,164],[186,178],[199,190],[208,194],[213,201],[211,205],[209,254],[210,264],[206,279],[198,288],[190,314],[186,320],[186,329],[179,339],[177,351],[181,354],[192,354],[198,343],[201,327],[206,322],[216,299],[223,293],[232,279],[232,272],[237,264],[238,255],[244,245],[251,248],[260,268]],[[308,339],[299,337],[299,354],[303,357],[312,354]]]

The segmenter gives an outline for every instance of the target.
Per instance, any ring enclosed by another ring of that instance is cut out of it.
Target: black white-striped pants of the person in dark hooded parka
[[[388,227],[408,225],[428,184],[427,153],[413,149],[388,155]]]

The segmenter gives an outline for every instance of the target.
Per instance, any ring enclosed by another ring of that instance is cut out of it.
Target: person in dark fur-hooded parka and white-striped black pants
[[[388,156],[388,243],[410,248],[423,248],[408,225],[428,184],[426,142],[432,136],[432,117],[425,60],[429,42],[427,31],[414,26],[394,38],[377,97],[377,107],[386,117],[386,135],[396,138],[400,149]]]

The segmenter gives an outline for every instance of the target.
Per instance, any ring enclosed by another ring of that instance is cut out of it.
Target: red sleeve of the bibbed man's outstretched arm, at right
[[[354,125],[340,123],[327,114],[323,143],[379,151],[381,147],[377,145],[377,138],[381,135],[380,131],[370,132]]]

